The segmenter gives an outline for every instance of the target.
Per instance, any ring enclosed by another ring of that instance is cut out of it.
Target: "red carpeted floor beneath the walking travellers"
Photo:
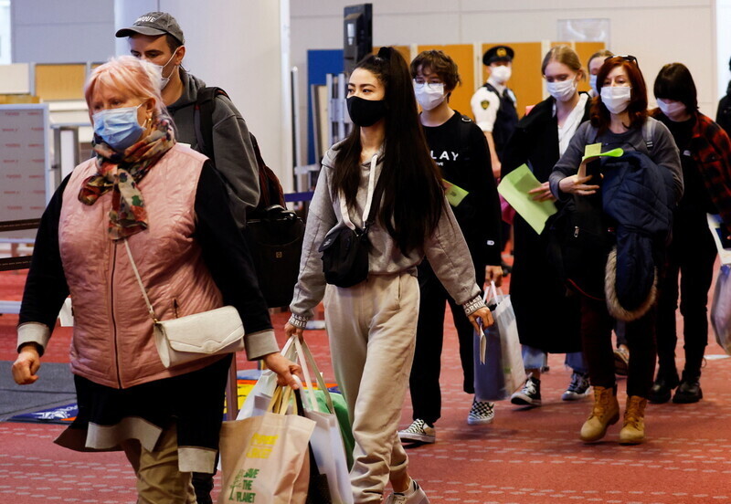
[[[19,299],[23,278],[0,273],[0,299]],[[286,318],[274,316],[280,338]],[[0,316],[0,360],[14,359],[16,320]],[[47,362],[68,362],[69,337],[68,329],[56,331]],[[604,442],[586,446],[577,433],[590,403],[561,401],[569,372],[560,355],[549,358],[542,407],[503,402],[492,425],[467,425],[471,397],[461,392],[457,342],[448,326],[438,442],[409,449],[412,476],[433,503],[731,503],[731,359],[721,355],[713,334],[710,339],[703,401],[649,405],[644,445],[620,446],[614,426]],[[307,340],[326,379],[334,380],[324,331],[309,331]],[[241,355],[238,366],[251,367]],[[0,377],[0,383],[6,380]],[[620,401],[623,391],[620,381]],[[410,421],[408,398],[402,420],[404,426]],[[132,502],[134,479],[124,457],[55,446],[61,428],[0,423],[0,503]]]

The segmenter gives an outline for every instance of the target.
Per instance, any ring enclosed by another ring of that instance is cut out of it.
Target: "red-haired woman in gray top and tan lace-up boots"
[[[607,177],[614,176],[609,170],[604,170],[604,161],[582,161],[585,147],[589,144],[601,143],[601,151],[621,148],[625,155],[625,163],[642,158],[652,161],[657,167],[654,173],[664,177],[656,187],[658,199],[645,201],[644,209],[634,211],[630,218],[641,219],[641,224],[651,225],[653,219],[660,219],[658,215],[669,215],[668,206],[675,205],[683,194],[683,173],[681,170],[678,149],[673,142],[673,135],[659,121],[647,115],[647,88],[642,77],[637,59],[630,56],[607,58],[597,75],[599,97],[594,99],[591,109],[591,120],[582,124],[571,139],[567,151],[556,163],[554,172],[550,176],[551,192],[559,199],[581,196],[585,201],[602,209],[602,218],[615,217],[608,215],[608,204],[615,205],[616,198],[605,197],[602,194],[608,184]],[[636,154],[641,152],[644,157]],[[588,163],[588,164],[587,164]],[[585,173],[586,170],[586,173]],[[648,169],[652,171],[652,168]],[[615,172],[616,173],[616,172]],[[602,179],[604,176],[604,179]],[[655,179],[657,180],[657,178]],[[672,189],[671,189],[672,187]],[[625,188],[626,189],[626,188]],[[641,190],[637,186],[630,188],[630,198],[637,194],[631,191]],[[662,200],[662,201],[661,201]],[[628,205],[636,203],[637,199],[627,200]],[[603,206],[602,206],[603,205]],[[627,211],[625,209],[625,211]],[[642,220],[643,219],[643,220]],[[669,220],[670,217],[667,217]],[[669,226],[667,222],[663,223]],[[657,226],[662,227],[662,226]],[[617,226],[618,249],[622,252],[620,243],[620,226]],[[622,238],[624,229],[621,230]],[[638,242],[643,237],[633,236]],[[646,257],[649,264],[645,273],[652,276],[654,268],[660,266],[664,242],[662,238],[652,236],[652,250]],[[650,240],[648,240],[650,241]],[[624,265],[624,258],[618,252],[617,263]],[[628,258],[629,259],[629,258]],[[600,263],[604,264],[604,262]],[[592,276],[595,282],[604,284],[604,268],[596,268],[596,275]],[[619,267],[618,267],[619,272]],[[590,275],[594,275],[593,273]],[[619,278],[619,273],[618,273]],[[634,281],[630,278],[630,282]],[[625,313],[627,323],[627,340],[630,346],[630,366],[627,378],[627,409],[624,414],[624,425],[620,431],[620,443],[637,444],[644,441],[644,409],[647,397],[652,387],[652,374],[657,352],[655,342],[655,306],[651,289],[647,298],[641,303],[642,310],[634,313]],[[607,286],[615,286],[613,281],[607,281]],[[631,286],[630,286],[631,287]],[[619,288],[618,288],[619,289]],[[609,289],[608,293],[609,292]],[[640,290],[639,286],[638,289]],[[614,356],[611,346],[611,330],[614,324],[612,313],[618,313],[621,307],[608,300],[582,296],[581,299],[581,331],[584,354],[588,362],[589,381],[594,387],[595,404],[591,415],[581,428],[580,437],[585,442],[601,439],[607,432],[609,425],[617,423],[620,417],[620,405],[617,401],[617,384],[614,375]]]

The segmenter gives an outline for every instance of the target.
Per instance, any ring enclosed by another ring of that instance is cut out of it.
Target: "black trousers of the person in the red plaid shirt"
[[[678,294],[683,315],[685,372],[691,377],[701,374],[705,346],[708,344],[706,305],[708,289],[714,278],[715,256],[714,237],[705,224],[705,214],[693,221],[678,221],[673,226],[673,243],[668,247],[658,302],[659,377],[672,380],[678,373],[675,368],[675,346],[678,342],[675,310],[678,308]]]

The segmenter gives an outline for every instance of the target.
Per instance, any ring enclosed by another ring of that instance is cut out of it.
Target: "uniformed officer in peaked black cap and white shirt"
[[[490,68],[490,78],[477,89],[470,102],[475,122],[490,146],[495,178],[500,178],[503,146],[518,123],[515,93],[505,86],[513,70],[514,54],[508,46],[490,47],[485,51],[482,63]]]

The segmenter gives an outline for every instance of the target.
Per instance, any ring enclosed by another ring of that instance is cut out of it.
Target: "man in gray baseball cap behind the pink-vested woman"
[[[211,157],[227,183],[231,213],[243,229],[246,211],[259,203],[260,195],[259,170],[246,121],[227,96],[218,94],[211,118],[213,145],[205,149],[199,145],[201,121],[197,118],[196,131],[196,100],[206,83],[181,66],[185,36],[175,17],[166,12],[148,12],[132,26],[118,30],[116,37],[129,37],[132,56],[160,67],[163,101],[175,121],[175,138]],[[202,139],[206,138],[204,132]]]

